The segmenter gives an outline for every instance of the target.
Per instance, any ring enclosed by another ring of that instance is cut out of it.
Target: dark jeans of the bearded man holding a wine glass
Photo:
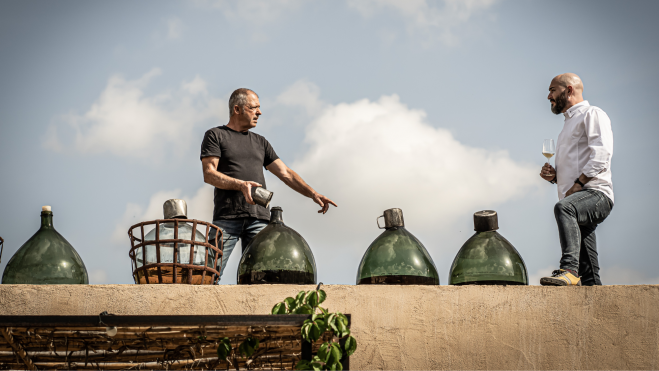
[[[561,239],[561,269],[581,276],[585,286],[601,285],[595,229],[611,213],[613,202],[602,192],[584,189],[560,200],[554,215]]]

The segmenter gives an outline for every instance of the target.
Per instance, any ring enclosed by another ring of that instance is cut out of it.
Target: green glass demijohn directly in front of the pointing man
[[[316,260],[307,241],[284,224],[281,207],[247,245],[238,266],[238,284],[315,284]]]

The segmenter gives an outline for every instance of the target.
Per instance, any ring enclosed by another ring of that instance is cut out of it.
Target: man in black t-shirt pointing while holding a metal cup
[[[268,224],[270,213],[252,200],[252,187],[265,187],[263,168],[286,185],[311,198],[325,214],[329,205],[337,206],[279,159],[270,143],[249,130],[256,127],[261,115],[259,97],[249,89],[237,89],[229,98],[229,123],[206,132],[201,144],[204,182],[215,187],[213,224],[223,234],[224,258],[220,274],[229,256],[241,240],[242,250]],[[214,235],[210,236],[215,238]]]

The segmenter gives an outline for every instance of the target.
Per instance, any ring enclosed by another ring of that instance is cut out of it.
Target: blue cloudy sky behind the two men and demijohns
[[[659,25],[653,1],[0,2],[0,270],[42,205],[92,283],[132,283],[128,227],[171,197],[210,220],[203,133],[254,89],[256,132],[339,204],[317,215],[266,174],[273,205],[312,247],[318,277],[353,284],[391,207],[442,284],[473,234],[500,233],[532,284],[558,265],[555,187],[541,144],[562,116],[552,77],[574,72],[611,117],[616,204],[598,228],[605,284],[659,283],[652,171]],[[232,256],[223,283],[235,283]]]

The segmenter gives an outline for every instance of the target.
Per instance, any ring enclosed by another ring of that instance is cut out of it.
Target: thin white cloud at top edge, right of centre
[[[348,6],[364,17],[389,10],[404,18],[408,32],[426,42],[439,40],[446,45],[458,41],[456,28],[478,12],[492,6],[496,0],[347,0]],[[441,4],[438,6],[438,4]]]

